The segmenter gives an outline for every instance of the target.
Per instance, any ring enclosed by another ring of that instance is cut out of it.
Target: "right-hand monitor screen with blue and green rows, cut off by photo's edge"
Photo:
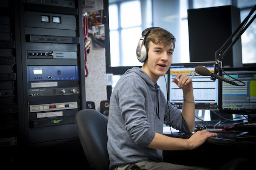
[[[220,113],[251,114],[256,113],[256,68],[224,68],[222,77],[239,85],[241,82],[227,76],[230,75],[245,83],[244,86],[222,82]]]

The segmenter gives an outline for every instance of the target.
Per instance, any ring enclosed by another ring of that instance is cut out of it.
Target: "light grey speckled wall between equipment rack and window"
[[[96,0],[96,6],[84,6],[84,9],[88,12],[103,9],[103,0]],[[100,111],[100,102],[107,99],[105,48],[96,49],[91,45],[86,65],[88,69],[88,76],[85,77],[86,101],[94,102],[95,109]]]

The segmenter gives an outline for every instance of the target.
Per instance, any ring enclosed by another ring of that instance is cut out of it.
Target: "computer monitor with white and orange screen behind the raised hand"
[[[195,72],[196,66],[201,65],[209,71],[214,72],[215,61],[213,62],[189,62],[172,63],[168,77],[168,100],[173,106],[182,109],[183,91],[172,79],[175,79],[178,72],[186,73],[192,78],[194,88],[195,109],[197,110],[219,110],[219,81],[213,81],[210,76],[201,76]],[[221,62],[220,62],[221,65]]]

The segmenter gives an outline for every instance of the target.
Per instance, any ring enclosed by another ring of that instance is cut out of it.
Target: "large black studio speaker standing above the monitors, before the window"
[[[188,23],[190,62],[215,61],[215,51],[240,25],[240,9],[234,6],[189,9]],[[225,68],[242,67],[241,38],[220,61]]]

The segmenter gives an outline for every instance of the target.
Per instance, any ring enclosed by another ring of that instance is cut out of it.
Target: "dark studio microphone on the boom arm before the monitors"
[[[216,79],[219,79],[219,80],[221,80],[223,82],[230,83],[231,85],[238,85],[237,83],[232,82],[229,79],[226,79],[224,77],[218,76],[215,73],[211,73],[207,68],[205,68],[205,67],[203,67],[201,65],[196,66],[195,72],[197,72],[201,76],[210,76],[210,77],[212,77],[211,79],[215,79],[216,78]]]

